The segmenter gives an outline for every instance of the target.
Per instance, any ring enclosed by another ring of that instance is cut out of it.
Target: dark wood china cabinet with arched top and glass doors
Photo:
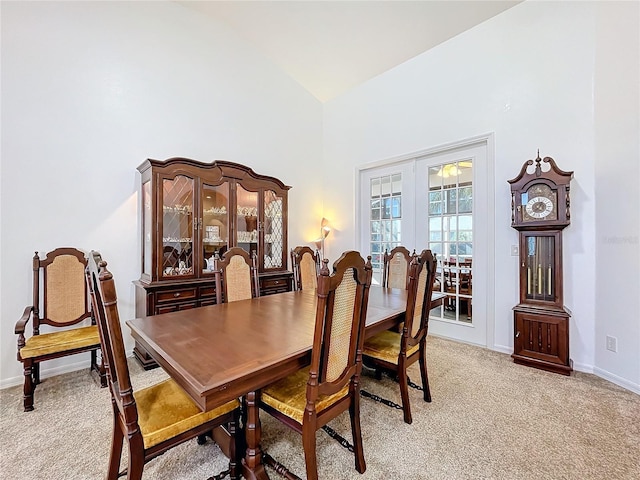
[[[213,258],[231,247],[256,255],[260,294],[292,289],[287,193],[280,180],[237,163],[146,160],[141,175],[142,259],[136,316],[215,303]],[[155,366],[136,343],[143,366]]]

